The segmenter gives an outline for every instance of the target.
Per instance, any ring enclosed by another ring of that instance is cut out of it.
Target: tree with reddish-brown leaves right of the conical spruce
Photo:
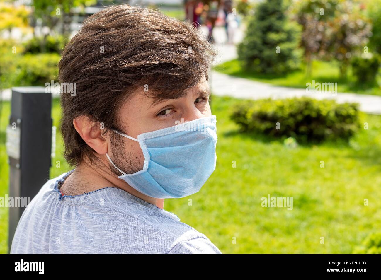
[[[301,46],[307,75],[311,74],[311,62],[317,56],[337,60],[341,78],[346,77],[349,59],[371,34],[371,25],[362,9],[361,3],[350,0],[294,3],[295,17],[303,28]]]

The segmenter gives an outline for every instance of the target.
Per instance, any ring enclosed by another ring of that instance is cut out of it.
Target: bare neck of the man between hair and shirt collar
[[[99,168],[93,168],[85,162],[78,165],[75,171],[66,178],[61,187],[61,192],[64,195],[78,195],[105,187],[117,187],[146,202],[156,205],[158,208],[163,209],[164,207],[164,198],[154,198],[142,194],[113,174],[106,173]]]

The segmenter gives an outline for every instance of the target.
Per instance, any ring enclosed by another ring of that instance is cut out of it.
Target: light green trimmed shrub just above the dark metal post
[[[16,67],[14,86],[43,86],[56,80],[58,75],[59,54],[26,54]]]

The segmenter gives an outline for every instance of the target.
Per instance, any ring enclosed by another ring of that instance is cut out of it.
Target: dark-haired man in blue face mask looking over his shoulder
[[[65,158],[22,214],[11,253],[221,253],[163,209],[216,165],[208,69],[216,53],[190,24],[108,7],[66,46],[59,80]]]

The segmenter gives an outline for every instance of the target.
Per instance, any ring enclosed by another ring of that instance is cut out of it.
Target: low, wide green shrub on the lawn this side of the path
[[[242,131],[306,142],[348,140],[360,127],[358,113],[358,104],[337,104],[328,99],[260,99],[238,104],[231,119]]]

